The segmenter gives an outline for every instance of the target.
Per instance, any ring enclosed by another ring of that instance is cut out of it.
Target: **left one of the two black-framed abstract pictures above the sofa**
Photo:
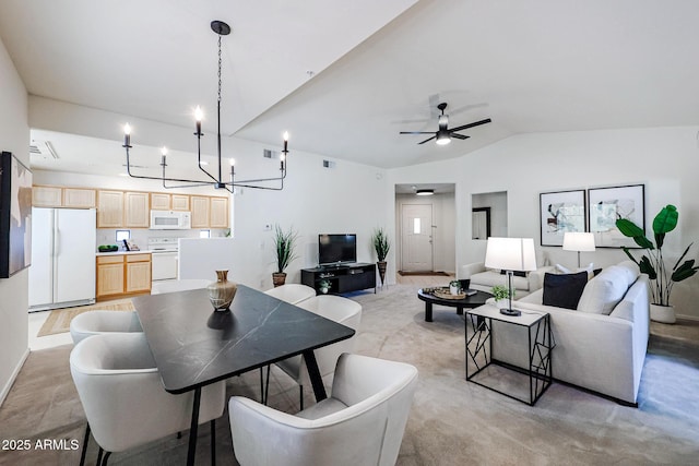
[[[585,230],[585,191],[540,194],[542,246],[562,246],[566,231]]]

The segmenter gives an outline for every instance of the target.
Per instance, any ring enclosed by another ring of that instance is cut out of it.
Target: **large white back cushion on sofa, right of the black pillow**
[[[578,302],[578,310],[608,315],[637,277],[638,267],[631,261],[604,268],[588,282]]]

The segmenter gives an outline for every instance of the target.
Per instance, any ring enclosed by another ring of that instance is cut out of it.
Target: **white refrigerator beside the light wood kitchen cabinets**
[[[29,311],[95,302],[96,211],[32,208]]]

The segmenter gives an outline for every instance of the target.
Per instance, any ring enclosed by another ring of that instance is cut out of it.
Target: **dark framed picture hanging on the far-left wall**
[[[0,158],[0,278],[32,263],[32,171],[15,156]]]

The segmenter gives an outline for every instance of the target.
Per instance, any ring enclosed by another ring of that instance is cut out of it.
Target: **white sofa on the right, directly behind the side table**
[[[606,267],[587,283],[577,310],[544,306],[543,294],[512,307],[549,313],[554,379],[636,406],[650,331],[648,276],[631,261]],[[525,347],[524,327],[494,322],[495,359],[525,368]]]

